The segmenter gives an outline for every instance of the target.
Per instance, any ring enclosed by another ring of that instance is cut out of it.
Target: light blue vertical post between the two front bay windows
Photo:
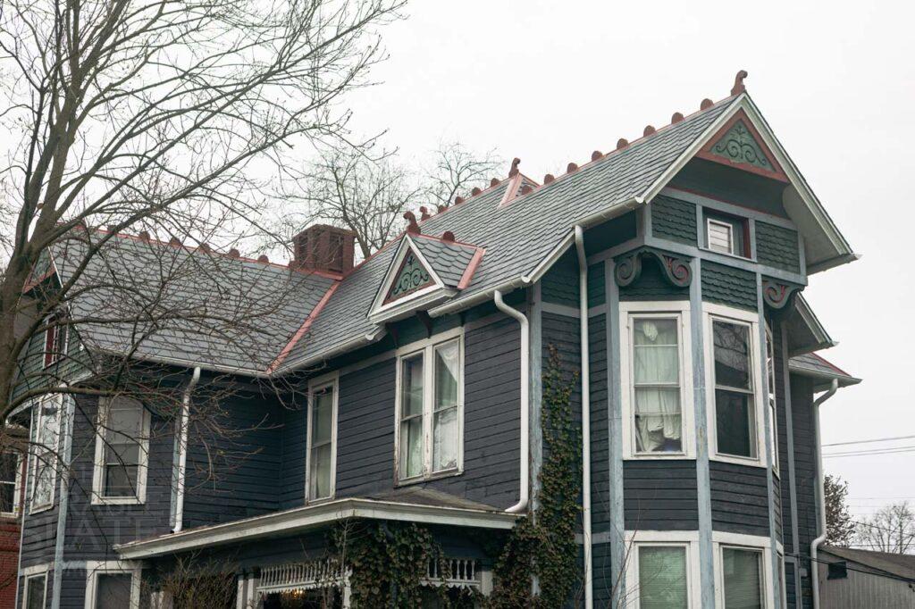
[[[702,276],[702,261],[690,262],[693,276]],[[693,342],[693,417],[695,421],[695,481],[699,510],[699,586],[702,606],[715,606],[715,550],[712,545],[712,490],[708,470],[708,412],[705,400],[705,314],[702,282],[690,283],[690,328]]]

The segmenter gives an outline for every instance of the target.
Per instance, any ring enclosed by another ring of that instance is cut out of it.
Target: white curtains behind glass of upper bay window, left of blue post
[[[676,319],[638,319],[633,336],[636,442],[640,451],[682,450]]]

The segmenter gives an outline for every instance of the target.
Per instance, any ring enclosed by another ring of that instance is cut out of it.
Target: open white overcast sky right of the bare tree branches
[[[737,69],[864,259],[805,295],[864,382],[823,406],[825,443],[915,435],[915,39],[910,3],[414,0],[385,30],[356,126],[421,159],[442,138],[522,158],[535,179],[726,97]],[[504,176],[508,165],[500,171]],[[915,446],[915,439],[851,448]],[[838,450],[838,449],[826,449]],[[827,459],[853,510],[915,503],[915,452]]]

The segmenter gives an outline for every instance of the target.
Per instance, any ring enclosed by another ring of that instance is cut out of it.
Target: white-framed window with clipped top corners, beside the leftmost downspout
[[[143,503],[149,457],[149,412],[130,398],[99,401],[93,503]]]

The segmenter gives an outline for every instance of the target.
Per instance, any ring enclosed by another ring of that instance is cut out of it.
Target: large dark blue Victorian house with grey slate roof
[[[156,399],[77,390],[20,409],[38,444],[20,605],[166,603],[175,572],[206,564],[195,589],[231,580],[212,606],[348,606],[392,557],[414,557],[398,577],[429,606],[442,590],[479,602],[513,574],[519,523],[569,483],[544,484],[550,458],[574,449],[569,604],[814,606],[818,409],[857,379],[817,353],[834,341],[801,293],[856,254],[745,76],[562,176],[537,182],[516,159],[407,214],[356,266],[352,235],[324,226],[288,266],[97,229],[51,247],[32,285],[94,279],[60,314],[94,317],[37,337],[21,384],[48,370],[92,388],[129,364]],[[156,323],[122,321],[133,305]],[[250,331],[203,311],[242,311]],[[573,383],[565,444],[544,424],[557,367]],[[208,436],[201,409],[232,433]],[[399,550],[357,548],[350,523]]]

